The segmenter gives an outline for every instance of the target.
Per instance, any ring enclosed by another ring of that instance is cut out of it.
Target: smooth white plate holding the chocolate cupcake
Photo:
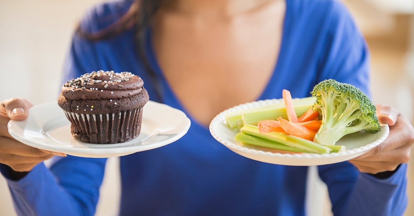
[[[143,108],[137,138],[116,144],[91,144],[72,137],[70,122],[56,102],[29,109],[25,121],[10,121],[9,133],[20,142],[43,150],[79,157],[118,157],[167,145],[190,128],[190,119],[178,109],[148,101]]]

